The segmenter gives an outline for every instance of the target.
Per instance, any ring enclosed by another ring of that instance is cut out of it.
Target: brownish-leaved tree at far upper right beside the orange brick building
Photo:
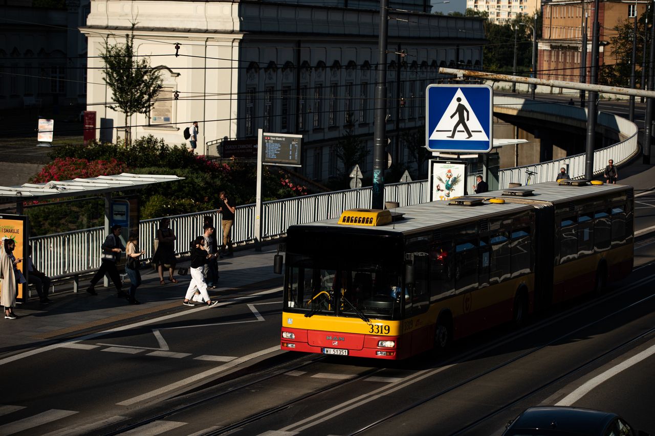
[[[637,56],[636,63],[639,64],[644,48],[644,29],[646,27],[646,13],[643,13],[637,20]],[[599,84],[608,84],[610,86],[630,86],[631,62],[632,62],[632,43],[635,41],[633,35],[635,31],[634,18],[626,18],[614,26],[615,35],[610,38],[612,46],[613,65],[602,65],[599,69]]]

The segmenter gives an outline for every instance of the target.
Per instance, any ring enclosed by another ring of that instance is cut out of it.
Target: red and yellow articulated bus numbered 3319
[[[633,201],[629,186],[567,180],[294,225],[281,348],[380,359],[440,353],[452,340],[601,292],[632,270]]]

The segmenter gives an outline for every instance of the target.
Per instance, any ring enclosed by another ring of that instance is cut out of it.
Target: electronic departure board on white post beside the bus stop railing
[[[302,166],[303,136],[257,130],[257,194],[255,194],[255,251],[261,251],[261,183],[264,165]]]

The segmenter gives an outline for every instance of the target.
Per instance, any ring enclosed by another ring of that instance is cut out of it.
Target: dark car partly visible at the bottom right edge
[[[530,407],[507,424],[503,436],[648,436],[615,413],[580,407]]]

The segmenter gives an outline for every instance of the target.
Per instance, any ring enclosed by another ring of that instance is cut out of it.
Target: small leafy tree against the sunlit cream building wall
[[[125,145],[130,144],[131,129],[129,119],[135,113],[147,115],[155,104],[153,99],[162,88],[159,71],[150,67],[147,57],[139,57],[134,52],[134,27],[125,35],[125,43],[109,45],[105,39],[104,51],[100,57],[105,62],[103,79],[113,93],[113,104],[107,105],[113,110],[120,110],[125,115]]]

